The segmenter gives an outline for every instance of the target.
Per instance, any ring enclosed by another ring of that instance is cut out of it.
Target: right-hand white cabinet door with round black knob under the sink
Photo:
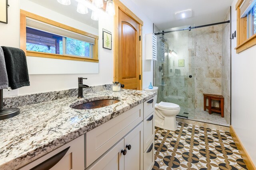
[[[131,146],[129,150],[129,145]],[[143,122],[137,125],[124,137],[124,147],[127,150],[124,156],[125,170],[143,169]]]

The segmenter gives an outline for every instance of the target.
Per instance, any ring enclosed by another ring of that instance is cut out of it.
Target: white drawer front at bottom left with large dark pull
[[[19,170],[83,170],[84,136],[80,136]]]

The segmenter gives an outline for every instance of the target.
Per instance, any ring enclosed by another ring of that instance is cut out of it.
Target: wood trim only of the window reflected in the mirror
[[[26,50],[26,17],[32,18],[32,19],[35,19],[35,20],[38,20],[38,21],[42,21],[42,22],[54,25],[56,27],[67,29],[69,31],[73,31],[73,32],[76,32],[76,33],[94,38],[95,39],[95,45],[94,45],[94,48],[93,48],[92,59],[84,58],[84,57],[73,57],[73,56],[68,56],[68,55],[42,53],[42,52],[36,52],[36,51],[27,51]],[[99,59],[98,59],[98,39],[99,39],[99,37],[97,35],[93,35],[93,34],[85,32],[85,31],[76,29],[74,27],[70,27],[68,25],[64,25],[62,23],[50,20],[48,18],[38,16],[38,15],[33,14],[31,12],[27,12],[25,10],[20,10],[20,49],[22,49],[26,53],[26,56],[44,57],[44,58],[51,58],[51,59],[74,60],[74,61],[87,61],[87,62],[98,63],[99,62]]]

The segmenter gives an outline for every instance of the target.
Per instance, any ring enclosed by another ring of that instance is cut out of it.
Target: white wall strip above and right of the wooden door
[[[142,89],[148,88],[149,83],[153,83],[153,61],[145,60],[146,58],[146,34],[153,33],[153,22],[141,12],[131,0],[120,0],[128,7],[136,16],[143,21],[142,27]]]

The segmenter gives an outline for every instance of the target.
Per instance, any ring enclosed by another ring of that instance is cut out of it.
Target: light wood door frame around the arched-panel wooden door
[[[122,10],[126,15],[128,15],[130,18],[132,18],[134,21],[136,21],[140,25],[140,37],[142,37],[142,26],[143,21],[138,18],[129,8],[127,8],[120,0],[114,0],[115,4],[115,11],[116,14],[114,16],[114,82],[118,82],[118,56],[119,56],[119,35],[118,35],[118,9]],[[140,41],[140,50],[139,50],[139,57],[140,57],[140,89],[142,90],[142,39]]]

